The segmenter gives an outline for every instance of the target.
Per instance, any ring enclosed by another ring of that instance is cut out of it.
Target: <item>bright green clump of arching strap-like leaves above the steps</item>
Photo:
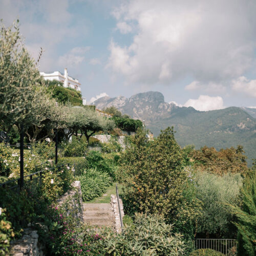
[[[95,169],[88,169],[82,176],[78,177],[81,183],[82,200],[90,201],[95,197],[101,196],[107,187],[112,184],[112,179],[105,172]]]

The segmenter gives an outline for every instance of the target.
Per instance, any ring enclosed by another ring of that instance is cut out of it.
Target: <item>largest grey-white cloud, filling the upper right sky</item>
[[[113,39],[108,67],[130,83],[172,84],[186,76],[202,87],[230,82],[253,65],[255,10],[256,2],[233,0],[122,2],[112,13],[117,26],[132,23],[137,32],[127,46]]]

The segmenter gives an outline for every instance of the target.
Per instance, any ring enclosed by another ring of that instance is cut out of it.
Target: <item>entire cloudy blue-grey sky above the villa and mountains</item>
[[[67,68],[90,102],[158,91],[207,111],[256,108],[256,1],[0,0],[42,72]]]

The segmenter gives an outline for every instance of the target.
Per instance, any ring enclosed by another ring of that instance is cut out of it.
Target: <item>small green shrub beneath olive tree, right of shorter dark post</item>
[[[84,157],[87,152],[87,142],[72,137],[71,143],[63,144],[62,155],[64,157]]]

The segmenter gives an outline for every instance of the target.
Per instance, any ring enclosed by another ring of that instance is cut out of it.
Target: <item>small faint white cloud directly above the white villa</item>
[[[59,65],[69,67],[77,66],[84,60],[84,54],[90,50],[90,47],[75,47],[67,54],[58,58]]]

